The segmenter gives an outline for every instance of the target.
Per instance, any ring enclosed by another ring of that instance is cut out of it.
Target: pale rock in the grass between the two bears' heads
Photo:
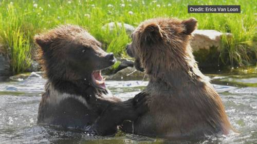
[[[114,22],[111,22],[111,23],[105,24],[105,25],[102,27],[102,29],[106,29],[107,26],[108,26],[108,28],[109,28],[109,31],[113,31],[113,29],[114,29],[116,26],[119,27],[119,28],[122,28],[122,23],[116,23],[116,24],[115,24]],[[124,29],[126,30],[126,33],[127,33],[128,35],[131,35],[131,34],[134,32],[134,30],[135,30],[135,27],[133,27],[133,26],[131,26],[131,25],[123,24],[123,26],[124,26]]]

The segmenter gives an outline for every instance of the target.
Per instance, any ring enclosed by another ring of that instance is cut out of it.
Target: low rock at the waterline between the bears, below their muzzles
[[[111,76],[105,76],[106,79],[111,79],[111,80],[127,80],[127,79],[143,79],[144,73],[137,71],[135,67],[127,67],[121,71],[118,71],[116,74],[113,74]]]

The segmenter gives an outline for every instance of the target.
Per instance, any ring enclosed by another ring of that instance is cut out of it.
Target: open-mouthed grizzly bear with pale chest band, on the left
[[[99,135],[113,134],[124,119],[135,120],[144,111],[144,94],[121,101],[106,88],[101,70],[115,63],[86,30],[63,25],[35,35],[47,82],[38,112],[38,124],[85,130],[108,108],[109,118]],[[142,96],[140,96],[142,95]],[[141,97],[141,99],[140,99]],[[110,128],[108,128],[110,127]],[[106,131],[105,131],[106,130]]]

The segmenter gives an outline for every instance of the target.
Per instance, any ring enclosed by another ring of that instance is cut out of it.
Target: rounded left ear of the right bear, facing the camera
[[[160,26],[158,24],[149,24],[145,26],[141,40],[148,44],[152,44],[159,42],[162,39],[162,37],[163,35]]]

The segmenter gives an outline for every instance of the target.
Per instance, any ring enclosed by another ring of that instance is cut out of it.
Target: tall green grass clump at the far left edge
[[[0,20],[8,20],[9,24],[0,24],[0,40],[4,45],[5,53],[11,62],[11,71],[13,73],[20,73],[26,70],[31,63],[31,45],[30,33],[25,34],[21,31],[21,23],[15,16],[15,11],[12,5],[8,5],[8,17],[4,18],[0,14]]]

